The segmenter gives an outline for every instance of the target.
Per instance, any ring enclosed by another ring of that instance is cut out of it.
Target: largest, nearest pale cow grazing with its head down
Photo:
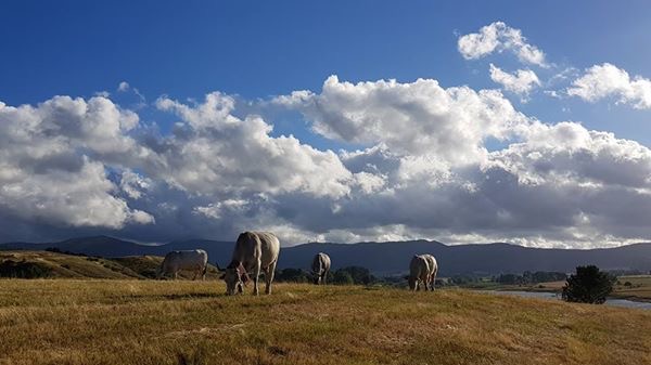
[[[271,282],[280,253],[280,242],[272,233],[244,232],[241,233],[233,249],[233,258],[226,268],[226,294],[232,296],[242,292],[243,279],[248,281],[253,272],[253,294],[258,295],[258,276],[265,271],[266,294],[271,294]]]

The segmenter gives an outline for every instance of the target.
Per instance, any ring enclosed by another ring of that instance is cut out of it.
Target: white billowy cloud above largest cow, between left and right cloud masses
[[[182,119],[163,144],[166,168],[154,173],[192,194],[348,194],[353,175],[331,151],[318,151],[293,136],[272,138],[259,116],[234,117],[234,100],[221,93],[187,105],[159,99],[162,110]]]

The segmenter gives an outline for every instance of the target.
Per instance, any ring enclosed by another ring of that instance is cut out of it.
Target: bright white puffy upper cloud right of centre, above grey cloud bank
[[[444,89],[432,79],[350,83],[331,76],[319,94],[295,92],[276,102],[302,110],[326,138],[383,143],[443,165],[476,161],[486,155],[485,139],[505,140],[527,123],[498,91]]]

